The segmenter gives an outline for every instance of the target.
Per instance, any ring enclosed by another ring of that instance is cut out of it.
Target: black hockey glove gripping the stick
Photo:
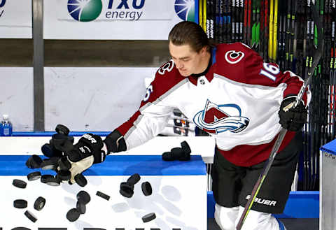
[[[280,105],[279,123],[288,131],[300,131],[307,122],[307,108],[302,101],[293,108],[295,99],[294,96],[283,99]]]

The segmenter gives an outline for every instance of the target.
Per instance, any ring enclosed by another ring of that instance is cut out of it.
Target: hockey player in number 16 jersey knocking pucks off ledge
[[[288,199],[310,92],[296,108],[283,108],[293,105],[304,81],[263,62],[242,43],[211,45],[194,22],[174,26],[169,52],[172,59],[158,69],[130,120],[104,141],[93,134],[80,138],[71,182],[107,154],[130,150],[157,136],[172,110],[179,108],[216,138],[211,171],[215,219],[221,229],[234,230],[282,126],[288,132],[242,229],[284,229],[272,213],[282,213]]]

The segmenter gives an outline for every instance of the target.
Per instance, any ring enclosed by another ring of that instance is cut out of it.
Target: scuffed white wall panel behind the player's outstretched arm
[[[45,131],[112,131],[139,108],[157,68],[45,67]]]

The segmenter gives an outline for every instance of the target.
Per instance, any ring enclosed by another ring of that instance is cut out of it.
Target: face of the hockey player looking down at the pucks
[[[188,77],[193,73],[202,73],[200,66],[203,51],[195,52],[190,45],[174,45],[169,42],[169,52],[182,76]]]

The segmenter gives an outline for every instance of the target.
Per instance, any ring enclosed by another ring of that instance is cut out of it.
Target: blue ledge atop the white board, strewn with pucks
[[[27,168],[29,155],[1,155],[0,175],[27,175],[33,171],[55,175],[53,171]],[[44,156],[40,156],[45,158]],[[83,175],[206,175],[207,169],[200,155],[190,161],[163,161],[161,155],[109,155],[102,164],[94,164]]]

